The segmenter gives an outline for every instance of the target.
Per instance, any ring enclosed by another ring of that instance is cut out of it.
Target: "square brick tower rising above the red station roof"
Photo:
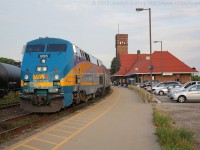
[[[128,34],[117,34],[115,36],[116,58],[120,54],[128,54]]]

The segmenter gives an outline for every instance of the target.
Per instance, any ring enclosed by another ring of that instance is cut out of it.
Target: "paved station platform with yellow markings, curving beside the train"
[[[112,89],[104,100],[5,149],[160,150],[152,106],[127,88]]]

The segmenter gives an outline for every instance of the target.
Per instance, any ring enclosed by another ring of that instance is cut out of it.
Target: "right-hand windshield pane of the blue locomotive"
[[[47,52],[65,52],[66,44],[49,44],[47,45]]]

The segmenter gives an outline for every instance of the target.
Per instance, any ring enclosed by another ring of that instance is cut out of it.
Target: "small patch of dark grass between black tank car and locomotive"
[[[0,105],[19,103],[19,101],[19,92],[10,92],[4,98],[0,99]]]

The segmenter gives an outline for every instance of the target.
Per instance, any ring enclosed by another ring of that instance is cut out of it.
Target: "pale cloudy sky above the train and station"
[[[152,41],[200,71],[200,0],[0,0],[0,57],[21,61],[28,41],[56,37],[110,68],[118,24],[129,54],[150,51],[149,12],[136,8],[151,8]]]

